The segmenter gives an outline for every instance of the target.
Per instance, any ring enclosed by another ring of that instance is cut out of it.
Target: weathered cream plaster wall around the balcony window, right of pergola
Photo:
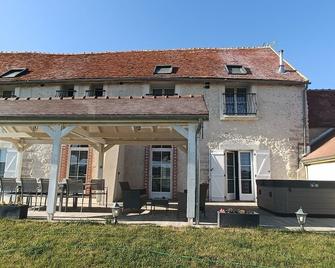
[[[208,179],[208,148],[271,152],[272,179],[296,179],[298,143],[303,142],[303,87],[253,85],[257,94],[256,120],[220,120],[224,84],[177,84],[180,94],[204,94],[209,121],[204,123],[200,141],[201,180]]]

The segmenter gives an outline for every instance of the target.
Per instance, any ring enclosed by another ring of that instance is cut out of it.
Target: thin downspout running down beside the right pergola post
[[[195,224],[199,225],[200,222],[200,152],[199,152],[199,138],[198,135],[200,131],[203,129],[203,122],[199,120],[198,128],[196,131],[196,142],[195,142],[195,150],[196,150],[196,195],[195,195]],[[199,135],[200,136],[200,135]]]

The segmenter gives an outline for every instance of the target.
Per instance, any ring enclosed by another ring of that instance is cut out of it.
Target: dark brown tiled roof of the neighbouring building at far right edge
[[[310,128],[335,127],[335,90],[308,90]]]

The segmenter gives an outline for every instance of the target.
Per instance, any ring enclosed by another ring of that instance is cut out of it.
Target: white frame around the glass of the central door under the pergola
[[[152,155],[153,152],[169,152],[170,153],[170,192],[153,192],[152,191]],[[149,161],[149,197],[150,198],[166,198],[172,199],[172,181],[173,181],[173,149],[171,148],[152,148],[150,147]]]

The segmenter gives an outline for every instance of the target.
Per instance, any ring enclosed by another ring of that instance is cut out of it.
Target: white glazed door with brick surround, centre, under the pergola
[[[172,148],[153,146],[150,161],[150,198],[172,198]]]

